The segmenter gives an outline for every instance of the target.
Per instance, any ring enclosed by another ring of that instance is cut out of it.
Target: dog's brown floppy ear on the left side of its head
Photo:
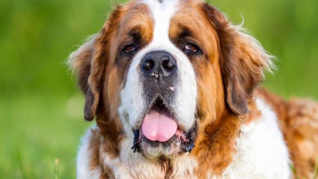
[[[122,6],[117,4],[113,12],[109,14],[102,30],[92,35],[68,58],[70,67],[73,72],[76,72],[78,85],[85,94],[84,117],[87,121],[92,121],[97,115],[98,106],[102,106],[100,90],[102,90],[109,61],[111,44],[108,42],[114,36],[113,32],[122,14]]]

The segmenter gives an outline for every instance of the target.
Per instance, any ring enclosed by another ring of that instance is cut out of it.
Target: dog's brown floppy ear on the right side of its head
[[[247,97],[264,80],[263,69],[270,71],[274,67],[272,56],[241,26],[232,25],[220,11],[208,4],[203,8],[218,37],[227,104],[235,114],[246,114]]]

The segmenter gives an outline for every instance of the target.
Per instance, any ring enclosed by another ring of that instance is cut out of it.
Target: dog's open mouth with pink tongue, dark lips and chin
[[[158,97],[145,115],[141,127],[133,130],[133,152],[145,154],[149,148],[150,151],[156,151],[156,155],[191,152],[196,125],[189,130],[181,130],[174,116],[172,110]]]

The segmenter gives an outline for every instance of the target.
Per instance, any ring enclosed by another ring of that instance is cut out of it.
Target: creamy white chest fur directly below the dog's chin
[[[130,150],[131,141],[126,139],[121,144],[120,155],[110,160],[105,158],[105,164],[110,167],[116,178],[164,178],[165,171],[157,161],[149,161],[140,153],[133,153]],[[105,155],[106,156],[106,155]],[[196,178],[193,176],[196,167],[196,160],[188,156],[188,153],[176,158],[171,166],[173,168],[170,178]],[[185,176],[186,170],[189,176]]]

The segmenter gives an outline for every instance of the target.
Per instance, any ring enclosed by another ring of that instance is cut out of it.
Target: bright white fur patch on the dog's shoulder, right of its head
[[[288,149],[277,125],[277,116],[260,98],[256,99],[261,116],[241,127],[236,138],[237,153],[222,173],[213,178],[290,178]]]

